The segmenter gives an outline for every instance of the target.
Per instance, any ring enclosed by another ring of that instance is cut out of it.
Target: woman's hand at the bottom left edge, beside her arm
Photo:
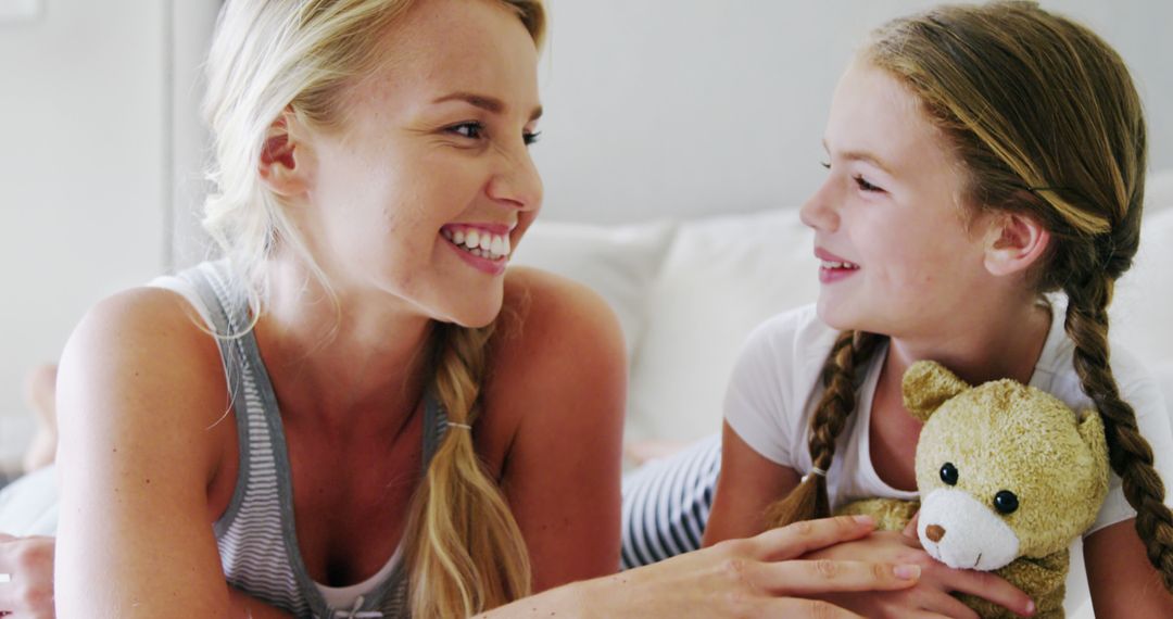
[[[0,615],[47,619],[53,612],[52,537],[0,533]],[[7,581],[5,581],[7,580]]]

